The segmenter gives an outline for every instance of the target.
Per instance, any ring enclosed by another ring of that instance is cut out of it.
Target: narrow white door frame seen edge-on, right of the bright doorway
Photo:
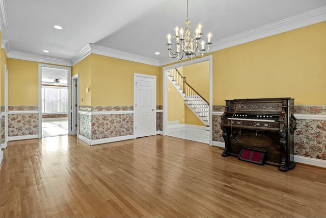
[[[72,118],[71,118],[71,135],[77,135],[79,132],[79,119],[78,119],[78,111],[79,111],[79,75],[76,74],[71,77],[71,100],[72,100]],[[76,85],[77,88],[74,86]],[[75,106],[76,105],[76,106]],[[77,128],[74,128],[74,125],[77,125]]]

